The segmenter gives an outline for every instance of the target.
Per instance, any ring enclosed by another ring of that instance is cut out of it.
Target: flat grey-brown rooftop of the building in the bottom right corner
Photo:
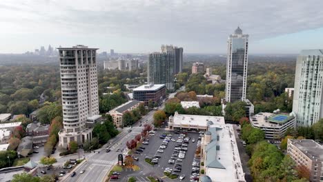
[[[319,143],[309,139],[288,139],[296,148],[302,151],[310,159],[321,159],[323,161],[323,146]]]

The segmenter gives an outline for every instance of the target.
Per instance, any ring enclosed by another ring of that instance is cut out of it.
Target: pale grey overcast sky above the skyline
[[[237,26],[249,52],[323,48],[323,0],[0,0],[0,52],[84,44],[99,52],[225,53]]]

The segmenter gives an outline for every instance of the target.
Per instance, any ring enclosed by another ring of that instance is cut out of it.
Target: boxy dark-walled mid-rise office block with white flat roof
[[[153,103],[160,104],[166,98],[165,84],[141,85],[133,89],[133,99],[143,101],[145,105],[151,100]]]

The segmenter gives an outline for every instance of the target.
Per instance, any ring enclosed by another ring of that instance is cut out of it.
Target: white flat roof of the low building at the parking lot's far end
[[[212,117],[212,116],[202,116],[202,115],[188,115],[188,114],[178,114],[175,112],[173,116],[173,122],[177,125],[201,125],[207,126],[208,123],[224,125],[224,117]]]

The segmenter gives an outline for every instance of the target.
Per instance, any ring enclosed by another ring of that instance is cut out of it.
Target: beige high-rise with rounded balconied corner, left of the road
[[[101,119],[97,92],[97,49],[76,45],[58,50],[63,105],[63,130],[59,132],[59,145],[67,147],[71,141],[80,145],[92,139],[92,129],[86,124]]]

